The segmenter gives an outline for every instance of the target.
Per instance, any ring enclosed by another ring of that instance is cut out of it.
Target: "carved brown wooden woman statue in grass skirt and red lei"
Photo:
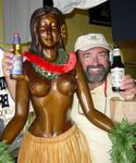
[[[75,53],[65,53],[66,25],[52,7],[34,12],[32,43],[24,63],[24,78],[17,82],[15,115],[1,139],[11,143],[23,129],[32,101],[35,120],[24,135],[18,163],[90,163],[87,142],[71,122],[76,92],[87,118],[109,131],[112,122],[95,110],[84,73]]]

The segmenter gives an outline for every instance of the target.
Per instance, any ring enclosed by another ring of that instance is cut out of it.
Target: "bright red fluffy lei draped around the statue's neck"
[[[28,51],[24,52],[23,55],[27,58],[27,61],[34,63],[35,65],[39,66],[40,68],[48,71],[50,73],[55,73],[55,74],[67,73],[70,71],[72,71],[76,64],[76,55],[74,52],[70,52],[70,60],[69,60],[67,64],[63,64],[63,65],[52,64]]]

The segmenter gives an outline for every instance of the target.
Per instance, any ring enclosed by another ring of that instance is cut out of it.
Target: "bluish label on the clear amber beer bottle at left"
[[[13,57],[13,67],[11,70],[11,74],[13,75],[21,75],[22,74],[22,66],[23,66],[23,58],[22,57]]]

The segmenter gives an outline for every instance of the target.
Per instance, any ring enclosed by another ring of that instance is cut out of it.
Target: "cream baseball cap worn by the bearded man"
[[[110,46],[102,34],[87,34],[79,36],[75,42],[75,51],[86,51],[96,47],[104,48],[111,51]]]

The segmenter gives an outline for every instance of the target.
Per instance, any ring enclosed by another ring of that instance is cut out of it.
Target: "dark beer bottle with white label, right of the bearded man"
[[[112,77],[112,90],[123,91],[121,86],[121,79],[125,74],[124,64],[121,58],[121,50],[118,46],[113,48],[113,63],[111,65],[111,77]]]

